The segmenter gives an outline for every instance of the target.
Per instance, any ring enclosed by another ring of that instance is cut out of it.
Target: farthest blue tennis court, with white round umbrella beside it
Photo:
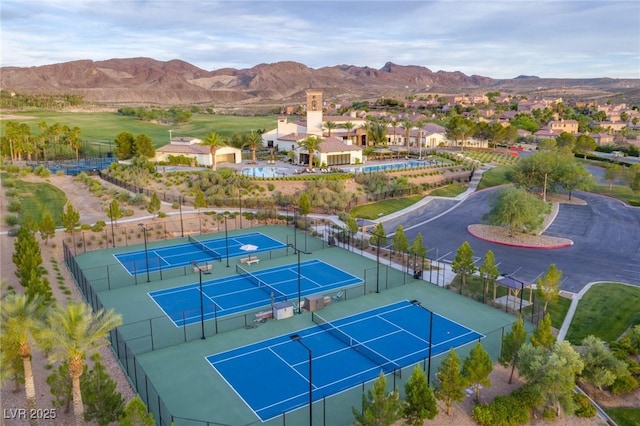
[[[147,257],[149,271],[171,269],[190,265],[192,262],[205,263],[226,259],[227,244],[229,257],[255,255],[256,253],[282,249],[286,244],[274,240],[260,232],[235,235],[227,238],[214,238],[198,241],[189,237],[189,242],[169,247],[150,248],[115,254],[115,258],[131,275],[147,271]]]

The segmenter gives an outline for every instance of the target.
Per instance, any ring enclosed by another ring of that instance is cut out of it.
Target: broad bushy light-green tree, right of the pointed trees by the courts
[[[573,409],[573,390],[576,376],[584,364],[567,341],[556,342],[551,351],[525,344],[520,349],[518,371],[527,383],[536,386],[544,397],[544,403],[567,412]]]

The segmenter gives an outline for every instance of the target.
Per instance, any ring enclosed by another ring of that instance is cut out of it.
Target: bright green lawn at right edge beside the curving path
[[[640,288],[624,284],[594,285],[582,297],[567,340],[580,344],[588,335],[612,342],[631,325],[640,324]]]

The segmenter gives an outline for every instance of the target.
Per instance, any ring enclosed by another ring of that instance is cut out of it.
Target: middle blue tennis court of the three
[[[252,271],[202,283],[204,319],[258,309],[298,297],[298,264]],[[361,278],[318,259],[300,262],[301,296],[360,284]],[[200,283],[149,293],[178,327],[200,321]]]

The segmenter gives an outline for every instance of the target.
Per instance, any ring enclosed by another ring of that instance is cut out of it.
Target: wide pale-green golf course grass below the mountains
[[[130,132],[134,136],[144,133],[153,140],[156,147],[169,143],[169,130],[172,130],[173,137],[203,138],[207,133],[217,132],[226,138],[236,133],[249,133],[251,130],[270,130],[277,125],[275,116],[239,117],[194,114],[189,123],[169,125],[140,121],[137,118],[121,116],[115,112],[26,111],[12,112],[11,114],[19,117],[14,118],[13,121],[29,124],[32,134],[39,134],[38,123],[45,121],[49,126],[54,123],[66,124],[69,127],[77,126],[81,130],[82,139],[87,142],[108,144],[122,131]]]

